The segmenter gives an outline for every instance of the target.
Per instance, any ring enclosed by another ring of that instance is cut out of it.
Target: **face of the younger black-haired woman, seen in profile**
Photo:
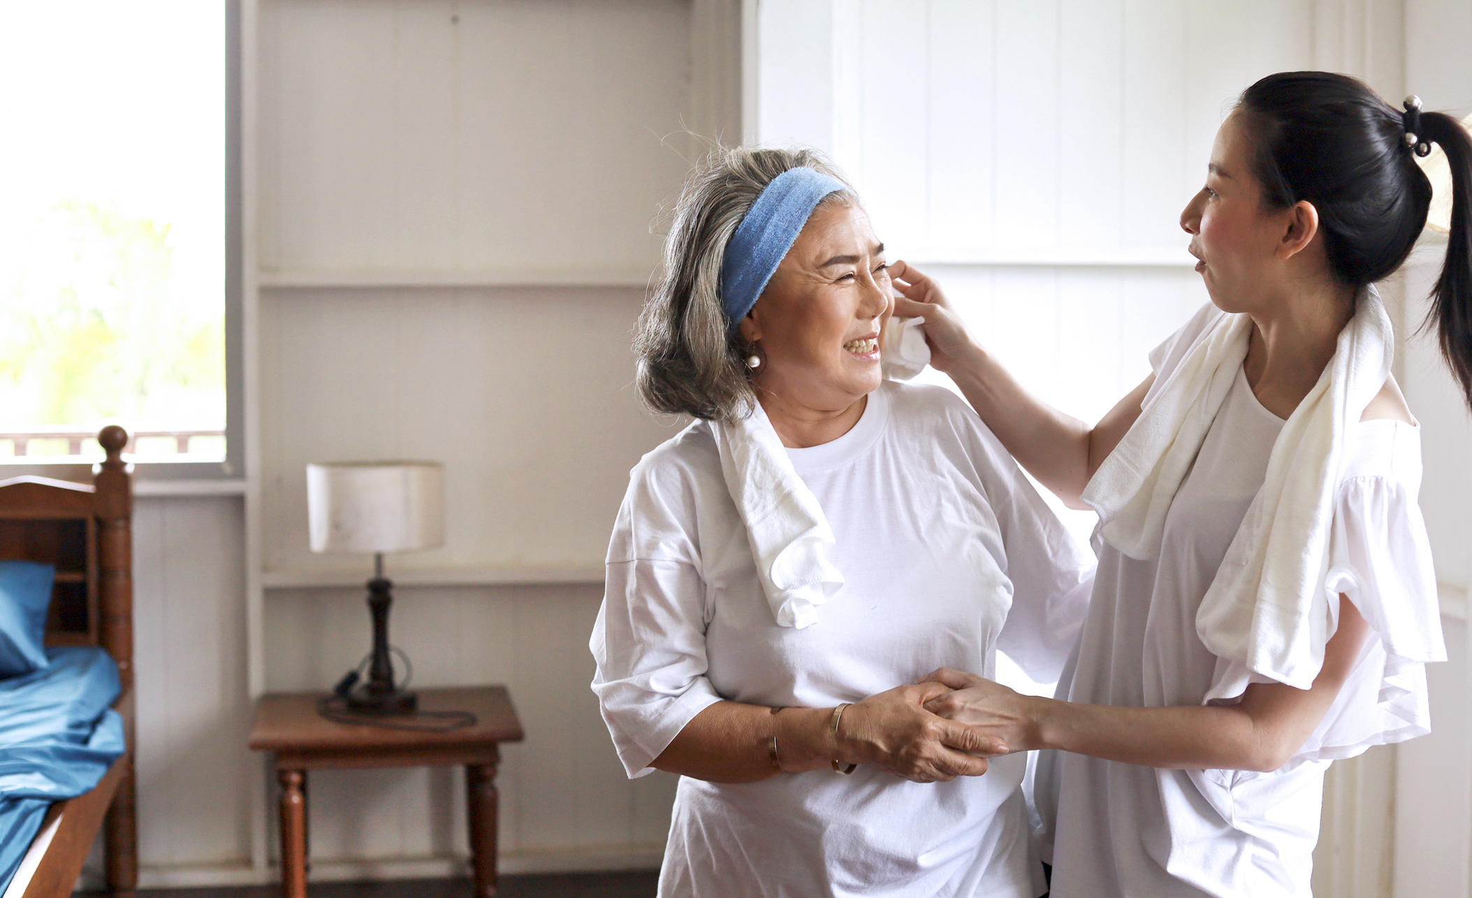
[[[1263,208],[1251,158],[1242,113],[1234,112],[1216,132],[1206,185],[1181,213],[1191,255],[1200,259],[1197,272],[1211,302],[1226,312],[1248,312],[1269,302],[1288,274],[1284,237],[1294,209]]]

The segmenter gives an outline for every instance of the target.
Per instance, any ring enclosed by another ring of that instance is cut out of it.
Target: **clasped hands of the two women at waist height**
[[[1036,746],[1025,696],[976,674],[942,667],[849,705],[845,752],[917,783],[982,776],[986,760]]]

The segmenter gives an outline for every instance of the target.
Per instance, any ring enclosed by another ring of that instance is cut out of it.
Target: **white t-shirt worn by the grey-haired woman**
[[[886,383],[846,434],[789,455],[846,581],[801,630],[773,620],[710,423],[634,467],[590,640],[629,776],[720,699],[829,708],[941,665],[989,676],[998,648],[1039,679],[1061,668],[1091,559],[960,399]],[[867,766],[682,777],[661,894],[1033,898],[1023,767],[927,785]]]

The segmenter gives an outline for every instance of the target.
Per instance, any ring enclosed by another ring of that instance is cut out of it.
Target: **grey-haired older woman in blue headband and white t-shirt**
[[[696,421],[631,473],[590,642],[629,776],[682,774],[662,895],[1044,891],[1025,755],[988,770],[913,683],[998,648],[1055,677],[1091,565],[964,402],[883,381],[891,296],[813,153],[686,185],[636,349]]]

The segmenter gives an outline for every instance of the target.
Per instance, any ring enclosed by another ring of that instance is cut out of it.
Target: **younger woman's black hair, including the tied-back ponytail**
[[[1329,269],[1362,287],[1390,277],[1426,225],[1426,141],[1451,168],[1451,240],[1432,291],[1441,353],[1472,408],[1472,137],[1440,112],[1394,109],[1363,82],[1331,72],[1279,72],[1242,91],[1253,174],[1273,209],[1319,212]],[[1410,128],[1420,132],[1407,143]]]

